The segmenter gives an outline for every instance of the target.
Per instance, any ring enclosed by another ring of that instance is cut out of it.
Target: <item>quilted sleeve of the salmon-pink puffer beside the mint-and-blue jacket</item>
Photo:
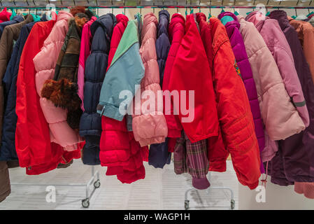
[[[150,35],[149,29],[145,35]],[[152,31],[152,36],[154,32]],[[138,97],[141,94],[141,100],[134,100],[134,112],[132,117],[132,128],[134,132],[134,139],[140,143],[140,145],[148,146],[150,144],[162,143],[168,134],[166,126],[166,119],[162,107],[161,87],[159,85],[159,68],[157,63],[157,54],[155,48],[155,39],[146,38],[143,41],[140,49],[141,58],[145,67],[145,76],[141,81],[141,91],[146,91],[148,95],[144,96],[141,92],[138,92]],[[150,93],[153,93],[151,95]],[[151,98],[155,97],[154,100]],[[149,98],[149,99],[148,99]],[[154,109],[148,109],[147,104],[151,106],[153,104]],[[145,106],[146,105],[146,106]],[[140,113],[137,113],[140,112]]]

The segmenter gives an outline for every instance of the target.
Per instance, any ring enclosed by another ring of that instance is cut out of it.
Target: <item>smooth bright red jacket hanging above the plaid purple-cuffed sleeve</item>
[[[219,123],[212,74],[194,15],[187,15],[185,36],[173,62],[169,90],[178,90],[180,93],[180,105],[173,101],[173,106],[179,111],[178,116],[185,134],[192,143],[218,135]],[[183,91],[186,91],[186,97],[182,95]],[[193,98],[190,91],[194,91],[194,105],[191,106],[189,104]],[[183,100],[186,105],[182,105]],[[192,111],[185,115],[180,107],[189,107]],[[190,120],[186,121],[189,116]]]

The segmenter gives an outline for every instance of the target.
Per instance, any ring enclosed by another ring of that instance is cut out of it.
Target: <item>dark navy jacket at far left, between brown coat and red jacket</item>
[[[43,19],[42,21],[45,21]],[[4,115],[2,125],[2,139],[0,148],[0,160],[10,161],[17,160],[15,151],[15,128],[17,116],[15,113],[16,103],[16,80],[19,70],[20,57],[27,37],[31,32],[36,22],[24,25],[20,31],[20,36],[17,39],[13,53],[8,62],[6,73],[3,76],[3,90],[4,90]]]

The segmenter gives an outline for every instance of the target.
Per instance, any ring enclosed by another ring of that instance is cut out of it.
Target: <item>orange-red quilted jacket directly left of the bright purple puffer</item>
[[[217,18],[210,18],[213,83],[222,139],[231,153],[238,181],[250,189],[258,186],[261,175],[259,147],[241,73],[237,68],[227,31]],[[209,53],[209,52],[208,52]]]

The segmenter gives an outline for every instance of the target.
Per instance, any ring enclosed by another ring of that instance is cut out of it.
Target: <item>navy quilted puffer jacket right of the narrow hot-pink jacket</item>
[[[101,116],[97,113],[101,85],[103,84],[110,50],[115,15],[108,13],[98,18],[90,27],[91,54],[85,64],[84,113],[80,118],[80,136],[85,137],[82,160],[85,165],[99,165]]]

